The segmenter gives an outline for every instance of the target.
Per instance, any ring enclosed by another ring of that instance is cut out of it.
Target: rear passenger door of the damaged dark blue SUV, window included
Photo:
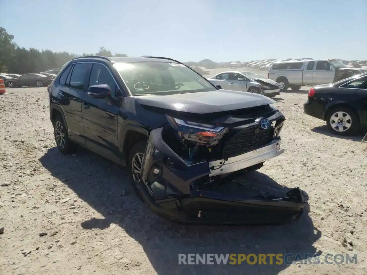
[[[91,63],[72,63],[62,72],[59,83],[59,104],[65,115],[69,138],[85,144],[84,125],[81,117],[83,95],[87,94],[87,77]]]

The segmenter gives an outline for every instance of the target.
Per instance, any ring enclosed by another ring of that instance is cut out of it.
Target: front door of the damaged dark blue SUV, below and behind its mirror
[[[98,84],[108,84],[111,96],[102,99],[84,94],[82,117],[86,146],[95,153],[120,163],[117,118],[122,93],[108,67],[102,63],[92,63],[88,87]]]

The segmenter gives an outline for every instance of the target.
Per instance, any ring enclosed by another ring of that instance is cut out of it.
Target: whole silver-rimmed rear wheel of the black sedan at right
[[[359,127],[359,117],[355,110],[349,107],[335,107],[328,112],[326,124],[336,135],[352,135]]]

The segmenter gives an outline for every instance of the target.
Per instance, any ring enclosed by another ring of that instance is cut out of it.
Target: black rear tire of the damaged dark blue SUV
[[[54,125],[55,143],[59,151],[64,155],[76,153],[77,145],[69,139],[68,130],[62,117],[60,115],[55,117],[52,124]],[[61,142],[61,137],[58,137],[58,133],[63,134],[63,142]]]

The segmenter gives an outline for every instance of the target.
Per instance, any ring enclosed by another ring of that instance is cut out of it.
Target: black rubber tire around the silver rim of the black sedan
[[[341,117],[334,117],[334,114],[341,112],[342,116]],[[348,119],[348,116],[350,119]],[[331,123],[331,118],[333,118],[333,124],[336,123],[340,118],[342,120],[339,120],[340,122],[347,122],[350,123],[349,128],[346,129],[346,126],[343,126],[343,130],[344,131],[338,131],[336,129],[336,127],[334,128],[334,125]],[[328,111],[327,116],[326,116],[326,125],[329,128],[329,130],[334,133],[335,135],[340,135],[340,136],[349,136],[352,135],[353,133],[355,133],[357,131],[357,129],[359,128],[359,117],[358,114],[356,113],[355,110],[353,110],[350,107],[346,107],[346,106],[340,106],[340,107],[334,107],[333,109],[331,109],[330,111]]]

